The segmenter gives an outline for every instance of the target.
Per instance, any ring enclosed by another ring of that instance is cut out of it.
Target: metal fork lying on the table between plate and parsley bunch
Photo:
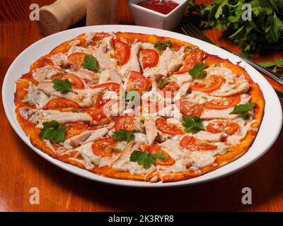
[[[221,47],[218,44],[212,42],[212,40],[209,40],[209,38],[206,37],[202,33],[201,30],[199,30],[194,25],[192,25],[192,23],[187,23],[186,25],[184,25],[182,27],[182,30],[188,36],[196,37],[199,40],[203,40],[205,42],[209,42],[211,44],[216,45],[217,47],[220,47],[221,49],[225,49],[226,51],[231,52],[231,51],[229,51],[229,49],[226,49],[225,47]],[[277,81],[277,83],[283,85],[283,76],[280,76],[279,74],[277,74],[277,73],[275,73],[273,71],[270,71],[269,69],[265,69],[265,67],[262,67],[259,64],[255,64],[255,62],[251,61],[250,59],[247,59],[246,57],[242,57],[241,55],[236,54],[235,52],[231,52],[231,53],[237,55],[238,57],[243,59],[243,61],[246,61],[248,64],[253,66],[255,69],[258,69],[258,71],[264,73],[266,76],[268,76],[268,77],[272,78],[273,80]]]

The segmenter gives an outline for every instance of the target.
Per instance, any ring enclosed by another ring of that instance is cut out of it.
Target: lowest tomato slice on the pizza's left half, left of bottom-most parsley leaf
[[[117,141],[112,138],[100,138],[93,142],[93,154],[100,157],[111,157],[112,147],[117,143]]]

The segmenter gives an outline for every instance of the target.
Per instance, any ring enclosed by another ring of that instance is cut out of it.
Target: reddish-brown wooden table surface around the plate
[[[125,0],[118,1],[120,23],[132,24]],[[51,4],[52,0],[0,1],[1,86],[13,59],[43,37],[36,23],[28,18],[29,6],[34,2],[43,6]],[[230,42],[219,39],[219,32],[209,30],[207,34],[219,44],[237,50]],[[280,54],[258,57],[257,60],[275,57],[280,57]],[[47,162],[18,138],[2,106],[0,211],[283,210],[282,132],[260,160],[229,177],[174,189],[129,189],[91,182]],[[39,205],[29,202],[32,187],[40,191]],[[252,189],[252,205],[241,203],[243,187]]]

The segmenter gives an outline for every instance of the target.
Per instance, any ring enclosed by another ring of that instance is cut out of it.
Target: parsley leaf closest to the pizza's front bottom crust
[[[143,166],[144,169],[149,169],[151,165],[154,165],[154,160],[157,158],[165,159],[167,156],[163,153],[154,153],[149,155],[147,151],[134,150],[129,157],[129,160],[131,162],[137,162],[137,164]]]

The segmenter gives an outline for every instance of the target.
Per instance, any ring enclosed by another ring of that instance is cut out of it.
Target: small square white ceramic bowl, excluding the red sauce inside
[[[173,30],[176,28],[180,24],[184,16],[185,8],[187,7],[187,0],[173,0],[178,3],[179,6],[165,15],[148,8],[138,6],[137,4],[140,1],[142,0],[128,1],[129,9],[134,17],[134,23],[136,25],[160,28],[164,30]]]

